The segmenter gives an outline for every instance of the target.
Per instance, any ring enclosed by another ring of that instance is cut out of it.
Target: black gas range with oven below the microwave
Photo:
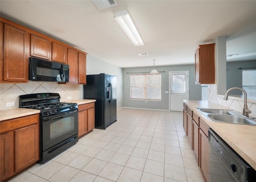
[[[40,163],[62,153],[78,141],[78,105],[60,102],[58,93],[19,96],[19,107],[40,112]]]

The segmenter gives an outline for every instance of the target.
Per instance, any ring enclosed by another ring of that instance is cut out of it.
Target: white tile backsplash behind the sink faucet
[[[210,90],[210,94],[208,94],[208,101],[242,113],[244,108],[244,98],[236,99],[235,97],[228,97],[228,100],[223,100],[224,96],[217,94],[216,87],[216,84],[208,84],[208,89]],[[256,117],[256,101],[247,102],[247,106],[249,110],[252,111],[252,113],[249,115]]]

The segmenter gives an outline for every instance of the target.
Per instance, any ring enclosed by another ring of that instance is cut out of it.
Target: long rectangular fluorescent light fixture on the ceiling
[[[135,46],[144,45],[138,30],[136,29],[134,23],[128,12],[126,10],[116,12],[114,15],[114,19],[120,25],[120,27],[124,30],[126,35],[132,41]]]

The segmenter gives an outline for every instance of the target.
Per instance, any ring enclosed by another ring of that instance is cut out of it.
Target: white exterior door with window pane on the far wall
[[[170,110],[183,111],[183,100],[188,100],[188,71],[169,72]]]

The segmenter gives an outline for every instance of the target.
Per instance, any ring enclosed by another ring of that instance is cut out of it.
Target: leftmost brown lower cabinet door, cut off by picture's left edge
[[[10,169],[10,133],[0,135],[0,179],[9,177]]]

